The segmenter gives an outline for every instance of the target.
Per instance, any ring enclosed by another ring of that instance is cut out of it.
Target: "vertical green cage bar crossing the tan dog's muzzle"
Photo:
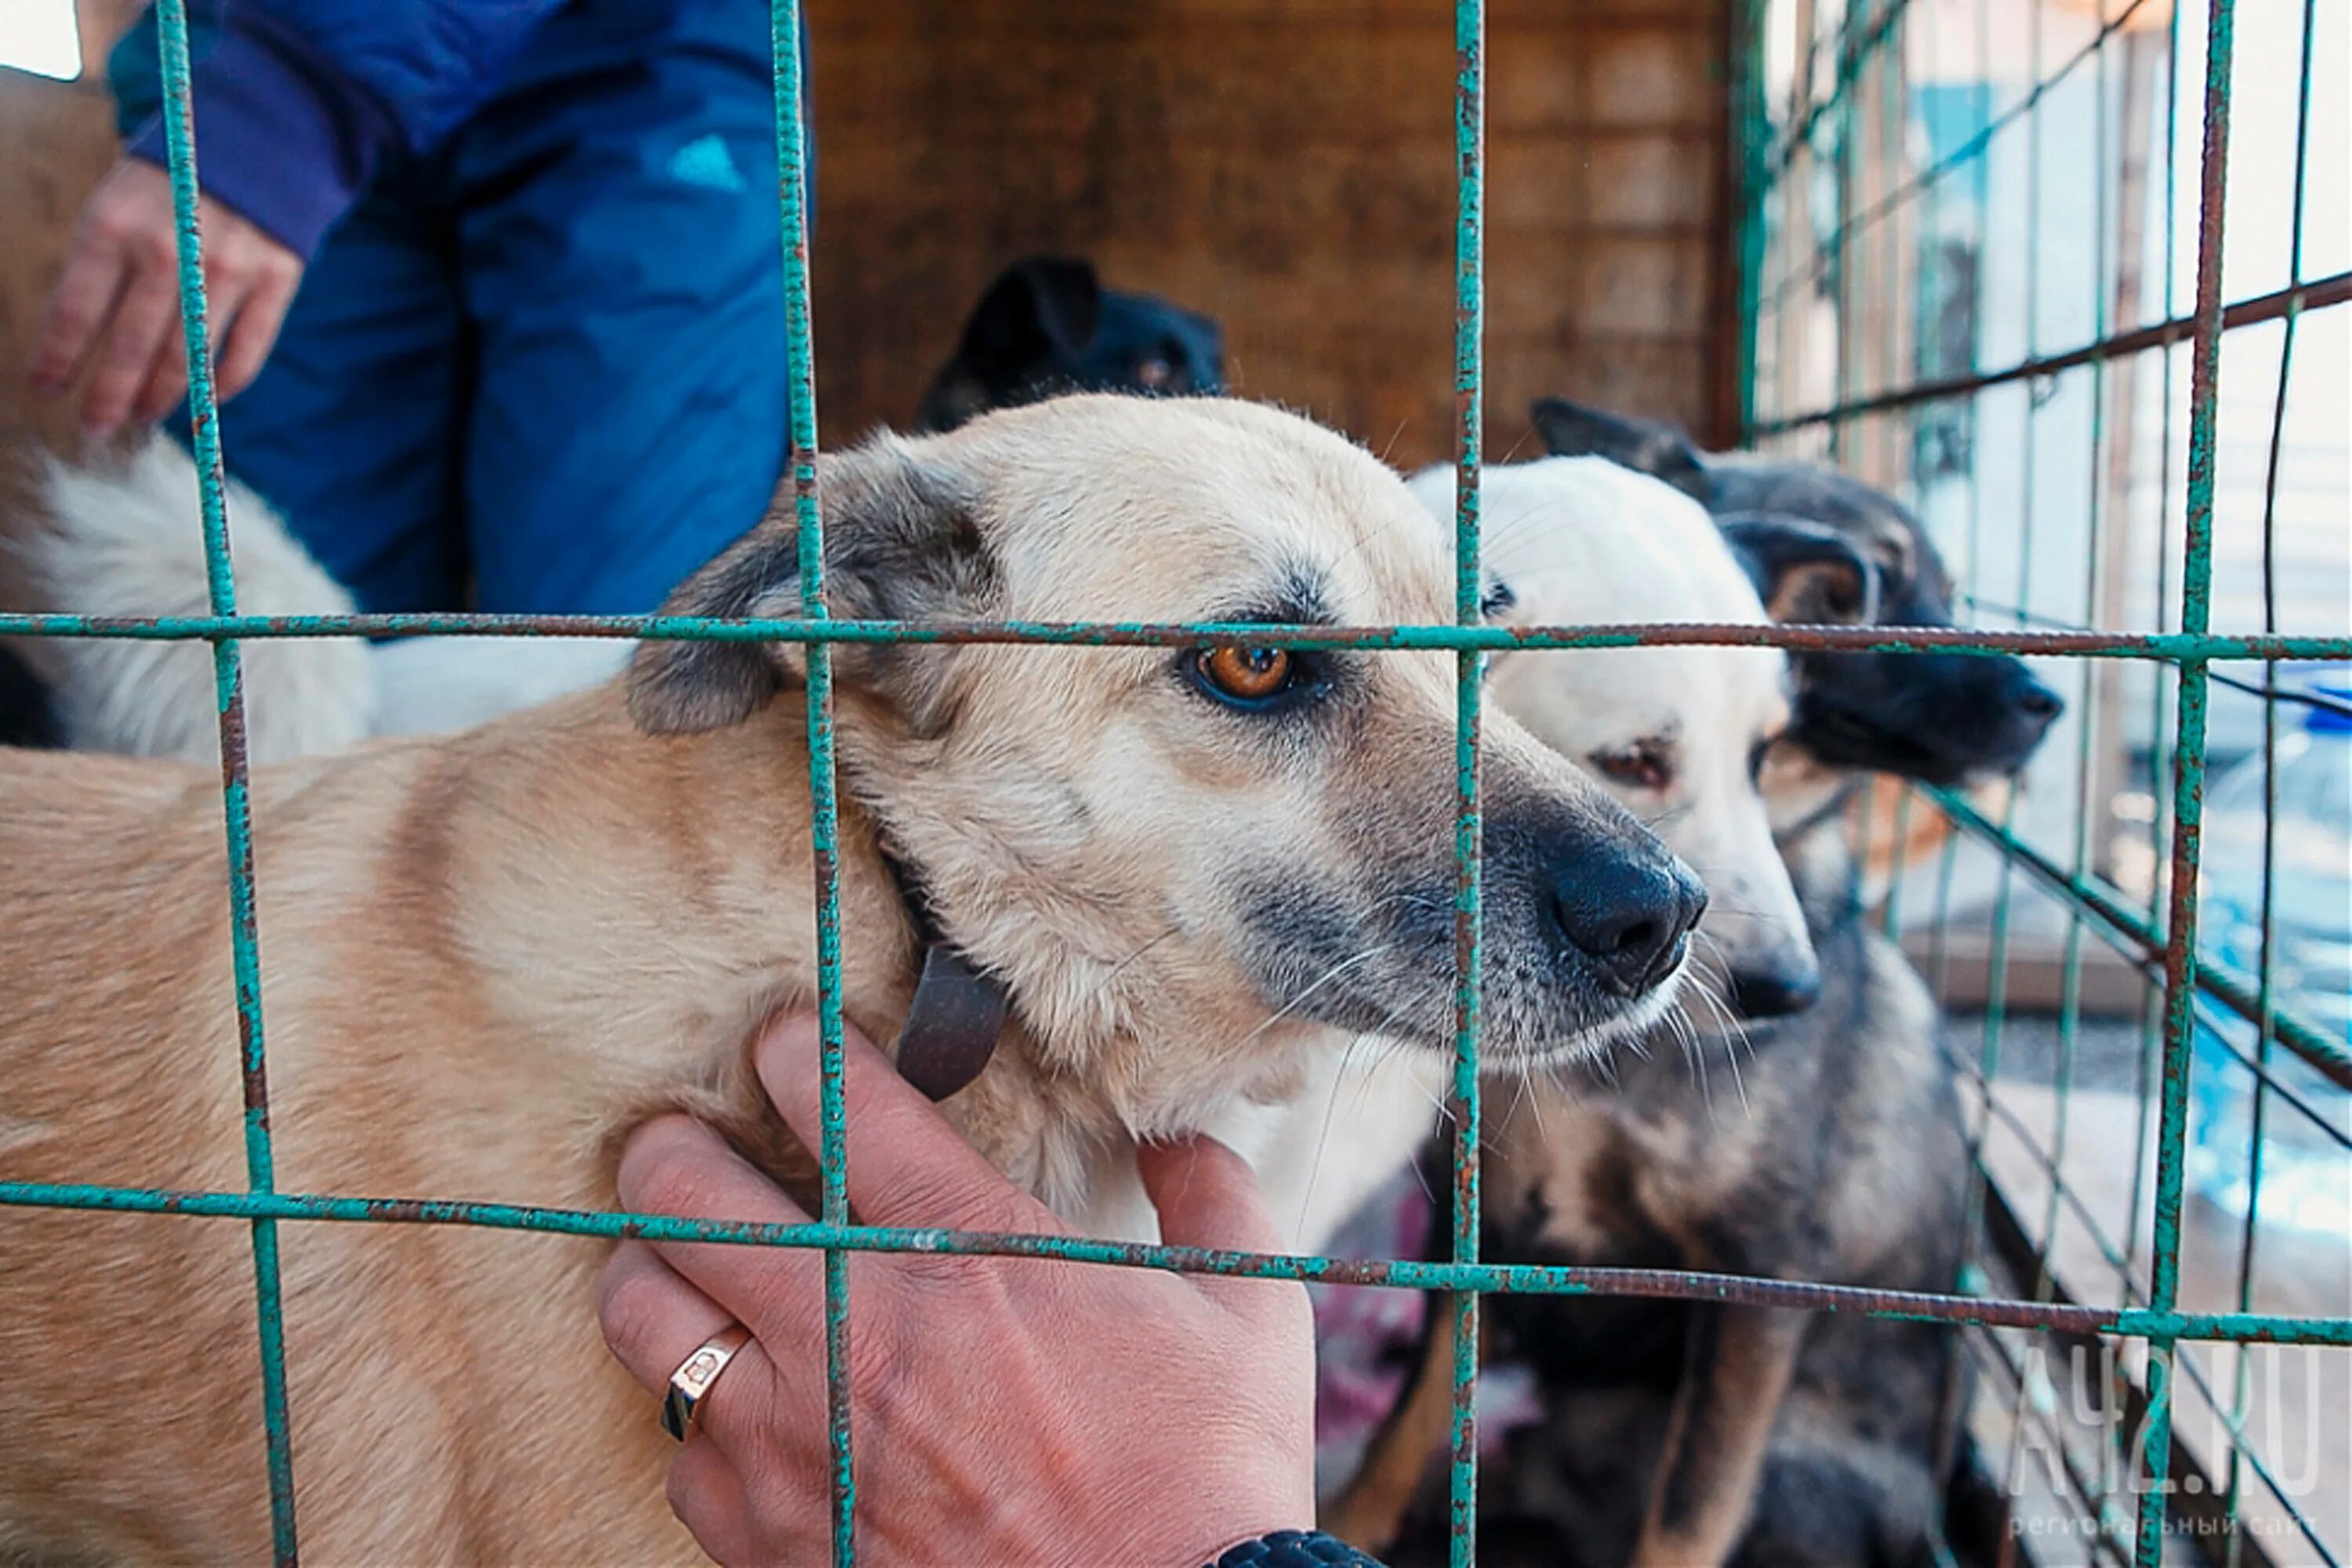
[[[1486,5],[1454,5],[1454,616],[1477,625],[1479,444],[1486,395]],[[1477,1262],[1479,1248],[1479,1095],[1477,1034],[1482,978],[1482,809],[1479,684],[1486,656],[1456,654],[1454,724],[1454,1260]],[[1477,1561],[1477,1291],[1454,1295],[1454,1429],[1446,1509],[1456,1568]]]

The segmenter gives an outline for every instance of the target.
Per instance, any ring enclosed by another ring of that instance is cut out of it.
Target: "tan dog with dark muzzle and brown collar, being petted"
[[[828,458],[821,487],[842,616],[1449,618],[1404,487],[1258,407],[1040,404]],[[670,609],[795,604],[783,508]],[[1263,1152],[1310,1135],[1296,1084],[1350,1032],[1449,1039],[1449,658],[835,665],[847,1011],[889,1039],[908,1004],[887,839],[1014,1004],[950,1114],[1065,1218],[1150,1234],[1136,1138]],[[626,684],[256,776],[280,1190],[602,1206],[621,1138],[670,1107],[807,1175],[746,1063],[814,985],[800,668],[647,644]],[[216,778],[19,752],[0,802],[0,1175],[242,1187]],[[1501,717],[1486,813],[1491,1058],[1646,1027],[1693,877]],[[313,1561],[694,1556],[668,1439],[597,1340],[602,1246],[287,1225],[282,1253]],[[0,1556],[266,1552],[242,1227],[0,1211]]]

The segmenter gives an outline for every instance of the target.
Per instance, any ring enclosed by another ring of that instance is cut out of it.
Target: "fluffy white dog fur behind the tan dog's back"
[[[348,616],[350,592],[285,520],[235,480],[226,491],[238,611]],[[207,616],[195,463],[151,435],[120,465],[49,461],[40,510],[14,541],[42,609],[82,616]],[[125,637],[33,637],[19,644],[49,686],[66,745],[132,757],[219,762],[212,646]],[[635,646],[621,637],[353,637],[240,642],[249,762],[329,752],[367,736],[473,729],[609,679]]]

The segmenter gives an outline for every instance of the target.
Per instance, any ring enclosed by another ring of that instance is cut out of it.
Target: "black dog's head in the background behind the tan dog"
[[[1216,395],[1225,336],[1155,294],[1105,289],[1094,263],[1028,256],[1004,268],[915,411],[917,430],[953,430],[990,409],[1058,393]]]

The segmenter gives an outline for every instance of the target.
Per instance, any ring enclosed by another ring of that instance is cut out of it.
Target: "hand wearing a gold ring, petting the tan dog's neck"
[[[755,1060],[816,1147],[816,1020],[771,1023]],[[844,1088],[863,1222],[1068,1234],[854,1030]],[[1249,1166],[1221,1143],[1152,1145],[1136,1164],[1169,1244],[1279,1248]],[[809,1218],[684,1117],[630,1138],[619,1185],[637,1213]],[[849,1295],[866,1561],[1192,1566],[1312,1526],[1315,1338],[1296,1284],[854,1253]],[[656,1396],[696,1347],[750,1333],[701,1385],[670,1507],[722,1563],[818,1561],[833,1472],[821,1255],[623,1241],[597,1319]],[[1235,1561],[1279,1561],[1256,1552]]]

